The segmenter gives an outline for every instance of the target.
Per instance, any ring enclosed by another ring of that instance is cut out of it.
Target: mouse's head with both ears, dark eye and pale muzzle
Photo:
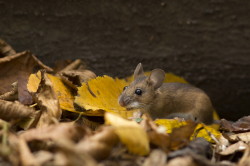
[[[124,87],[118,101],[122,107],[127,109],[146,108],[154,102],[156,90],[162,85],[165,79],[165,72],[161,69],[154,69],[146,77],[142,64],[139,63],[134,71],[134,81]]]

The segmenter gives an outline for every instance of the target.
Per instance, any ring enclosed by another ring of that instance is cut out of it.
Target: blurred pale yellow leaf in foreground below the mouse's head
[[[123,119],[117,115],[106,113],[105,123],[115,128],[115,133],[129,152],[137,155],[149,153],[149,139],[144,129],[134,121]]]

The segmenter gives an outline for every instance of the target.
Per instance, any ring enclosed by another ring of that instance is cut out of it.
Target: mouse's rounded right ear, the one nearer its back
[[[154,69],[148,77],[148,83],[154,86],[154,89],[159,88],[165,79],[165,72],[161,69]]]

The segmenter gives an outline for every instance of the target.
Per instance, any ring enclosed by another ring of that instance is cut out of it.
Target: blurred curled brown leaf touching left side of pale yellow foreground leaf
[[[76,146],[79,153],[87,153],[96,160],[103,160],[110,155],[118,137],[113,127],[106,126],[100,128],[94,135],[85,137]]]

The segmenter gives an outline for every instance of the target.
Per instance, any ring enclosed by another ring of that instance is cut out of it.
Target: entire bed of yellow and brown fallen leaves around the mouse
[[[250,165],[250,116],[212,126],[134,121],[137,110],[117,103],[132,77],[96,76],[80,59],[62,64],[53,70],[0,40],[0,165]]]

